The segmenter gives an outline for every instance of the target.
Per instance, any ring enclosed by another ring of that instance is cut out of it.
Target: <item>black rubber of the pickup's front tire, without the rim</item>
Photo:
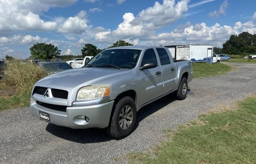
[[[119,121],[120,121],[120,114],[122,113],[122,109],[127,105],[131,107],[133,115],[132,115],[132,121],[130,123],[130,126],[128,126],[128,128],[124,130],[121,128]],[[134,125],[136,123],[136,118],[137,118],[136,104],[131,97],[127,96],[120,99],[116,104],[116,106],[113,107],[113,110],[114,110],[114,113],[112,115],[112,118],[110,118],[110,125],[107,128],[107,132],[110,136],[114,138],[124,138],[132,132]]]

